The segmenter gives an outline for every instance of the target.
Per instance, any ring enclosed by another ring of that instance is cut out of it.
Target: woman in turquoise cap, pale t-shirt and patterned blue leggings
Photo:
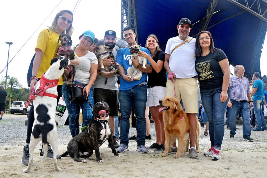
[[[74,81],[82,84],[87,84],[83,92],[86,93],[90,103],[94,104],[93,87],[97,75],[97,58],[93,52],[87,48],[95,42],[95,34],[91,31],[85,31],[79,36],[79,45],[75,47],[74,51],[79,59],[79,65],[75,66]],[[72,100],[69,96],[72,94],[71,85],[63,84],[62,94],[67,105],[69,115],[69,129],[72,137],[79,134],[79,114],[80,107],[83,112],[83,124],[87,126],[92,121],[93,108],[89,105],[88,101]]]

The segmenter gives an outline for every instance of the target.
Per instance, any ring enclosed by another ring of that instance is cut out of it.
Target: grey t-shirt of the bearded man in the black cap
[[[117,57],[117,50],[115,48],[113,48],[112,50],[112,54],[116,60]],[[117,80],[118,80],[118,76],[112,76],[110,78],[107,79],[106,85],[105,85],[105,81],[106,78],[99,74],[96,77],[95,83],[94,83],[94,88],[101,88],[101,89],[111,89],[111,90],[119,90],[118,84],[117,84]]]

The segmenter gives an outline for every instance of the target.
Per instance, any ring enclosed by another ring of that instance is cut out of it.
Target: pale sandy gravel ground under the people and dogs
[[[129,151],[121,153],[122,157],[115,157],[111,148],[107,148],[107,142],[100,147],[101,157],[104,163],[96,163],[95,153],[87,164],[73,161],[69,156],[58,159],[62,171],[54,169],[53,161],[46,159],[41,162],[39,156],[39,143],[34,151],[34,165],[30,173],[23,173],[25,166],[20,164],[21,154],[25,143],[25,135],[17,138],[17,130],[22,129],[26,134],[25,116],[20,116],[19,126],[13,125],[12,132],[6,136],[6,143],[0,143],[1,177],[266,177],[267,163],[267,132],[252,132],[254,142],[242,140],[242,126],[237,126],[236,138],[230,139],[230,131],[225,130],[222,145],[222,159],[212,161],[210,157],[203,155],[209,149],[209,136],[204,136],[204,128],[201,128],[199,159],[191,159],[186,155],[179,159],[173,159],[172,155],[161,157],[150,152],[140,154],[136,149],[136,142],[130,141]],[[6,118],[0,122],[1,133],[5,132],[6,125],[10,122],[18,122],[15,116]],[[152,140],[146,140],[150,146],[155,142],[154,124],[150,124]],[[70,140],[70,133],[65,133],[68,126],[59,126],[58,152],[62,154],[67,149],[66,140]],[[130,129],[134,133],[134,128]],[[18,131],[19,135],[19,131]],[[129,134],[132,136],[132,134]],[[3,138],[3,137],[2,137]],[[0,137],[0,139],[2,139]],[[13,142],[13,140],[17,140]]]

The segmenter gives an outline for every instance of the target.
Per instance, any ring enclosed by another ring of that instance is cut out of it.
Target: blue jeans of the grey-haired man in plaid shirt
[[[229,107],[230,134],[236,134],[237,115],[240,112],[243,119],[243,138],[251,135],[248,103],[231,100],[232,108]]]

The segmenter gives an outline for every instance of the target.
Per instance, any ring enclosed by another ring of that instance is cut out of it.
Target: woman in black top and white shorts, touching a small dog
[[[154,34],[147,37],[145,47],[150,51],[152,58],[144,51],[140,51],[138,56],[148,58],[153,67],[152,73],[147,74],[148,91],[146,106],[149,106],[150,113],[155,122],[157,141],[147,148],[151,150],[154,149],[154,153],[161,153],[161,151],[165,149],[165,132],[162,112],[159,112],[159,108],[161,108],[159,100],[163,99],[166,94],[167,77],[166,70],[163,67],[165,54],[161,51],[158,38]]]

